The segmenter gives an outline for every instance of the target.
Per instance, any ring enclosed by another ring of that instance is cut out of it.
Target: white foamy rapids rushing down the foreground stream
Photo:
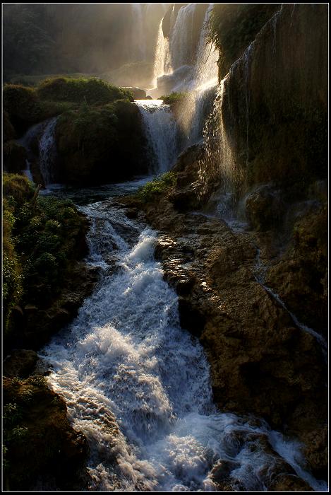
[[[203,349],[181,329],[178,298],[153,256],[156,233],[109,201],[80,208],[100,281],[42,354],[53,366],[49,383],[88,438],[90,489],[215,491],[212,468],[222,460],[234,491],[264,491],[276,450],[325,489],[303,471],[297,443],[263,421],[217,411]]]

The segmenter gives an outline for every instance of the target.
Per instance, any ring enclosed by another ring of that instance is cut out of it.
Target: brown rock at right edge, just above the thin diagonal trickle
[[[292,226],[291,242],[272,263],[266,283],[304,325],[327,337],[327,206]]]

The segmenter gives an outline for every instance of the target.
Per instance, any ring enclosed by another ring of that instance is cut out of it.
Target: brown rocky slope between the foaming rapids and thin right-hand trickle
[[[258,237],[234,233],[219,219],[175,210],[175,190],[158,204],[128,201],[128,206],[145,209],[159,231],[155,255],[179,295],[182,327],[203,344],[215,402],[223,411],[263,417],[301,438],[321,458],[324,452],[325,464],[325,442],[313,447],[309,440],[322,435],[327,417],[320,344],[259,283]],[[317,472],[314,462],[311,469]],[[302,482],[289,473],[272,483],[275,490],[297,490]]]

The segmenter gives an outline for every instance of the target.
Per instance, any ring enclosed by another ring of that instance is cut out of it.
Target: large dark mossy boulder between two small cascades
[[[140,113],[128,100],[66,112],[56,143],[61,182],[97,185],[148,172]]]

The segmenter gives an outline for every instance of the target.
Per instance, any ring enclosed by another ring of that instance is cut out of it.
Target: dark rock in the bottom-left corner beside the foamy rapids
[[[66,404],[35,372],[37,354],[4,362],[4,488],[76,491],[88,486],[88,443],[69,424]]]

